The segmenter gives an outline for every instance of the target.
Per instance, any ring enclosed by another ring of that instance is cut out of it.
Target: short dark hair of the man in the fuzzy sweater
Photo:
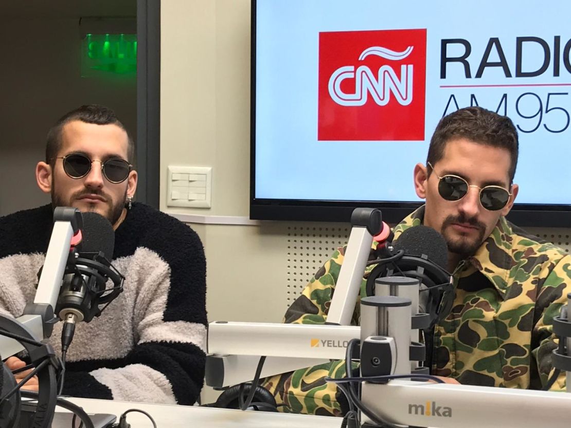
[[[96,125],[116,125],[127,133],[127,160],[130,164],[135,164],[135,142],[131,138],[131,134],[127,128],[120,122],[111,108],[99,106],[98,104],[88,104],[72,110],[63,115],[58,122],[47,132],[46,144],[46,163],[51,164],[59,149],[62,146],[62,129],[73,120],[81,120],[85,123],[94,123]]]

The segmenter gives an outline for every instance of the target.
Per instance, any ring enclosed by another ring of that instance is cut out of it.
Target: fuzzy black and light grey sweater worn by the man
[[[34,300],[52,228],[51,205],[0,219],[0,312],[21,316]],[[115,231],[112,263],[125,277],[123,293],[100,317],[77,325],[63,393],[191,405],[203,385],[206,347],[206,261],[198,235],[135,203]],[[58,354],[61,329],[60,322],[49,339]]]

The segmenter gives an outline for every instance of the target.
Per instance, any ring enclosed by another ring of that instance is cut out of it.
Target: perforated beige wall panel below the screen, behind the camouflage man
[[[527,228],[526,231],[564,248],[566,252],[571,249],[571,229]],[[347,224],[287,227],[287,306],[299,296],[312,275],[335,249],[347,243],[350,232]]]

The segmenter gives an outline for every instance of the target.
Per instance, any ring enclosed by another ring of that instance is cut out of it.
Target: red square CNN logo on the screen
[[[319,33],[317,140],[424,140],[427,30]]]

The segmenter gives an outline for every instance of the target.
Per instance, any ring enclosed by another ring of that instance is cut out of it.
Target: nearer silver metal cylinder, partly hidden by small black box
[[[411,373],[411,300],[396,296],[371,296],[361,300],[361,342],[369,336],[395,340],[395,374]]]

